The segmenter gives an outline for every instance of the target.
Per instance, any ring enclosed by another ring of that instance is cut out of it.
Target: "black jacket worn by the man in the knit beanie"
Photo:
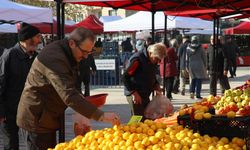
[[[20,44],[5,49],[0,57],[0,116],[16,116],[26,77],[37,53],[26,54]]]

